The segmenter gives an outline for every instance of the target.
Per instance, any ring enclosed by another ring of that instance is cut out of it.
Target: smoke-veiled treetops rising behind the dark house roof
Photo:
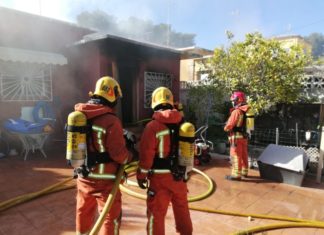
[[[116,17],[101,10],[82,12],[77,16],[77,22],[83,27],[97,29],[99,32],[160,45],[171,47],[195,45],[195,34],[176,32],[169,24],[154,25],[150,20],[136,17],[119,21]]]

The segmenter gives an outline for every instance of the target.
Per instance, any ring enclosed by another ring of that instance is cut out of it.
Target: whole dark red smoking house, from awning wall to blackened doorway
[[[158,86],[169,87],[179,99],[177,50],[3,7],[0,22],[1,122],[46,101],[63,130],[74,104],[86,102],[96,80],[106,75],[121,85],[124,124],[150,117],[151,93]]]

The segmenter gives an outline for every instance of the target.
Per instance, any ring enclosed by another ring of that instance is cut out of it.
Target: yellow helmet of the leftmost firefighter
[[[118,82],[109,76],[100,78],[96,83],[95,91],[90,91],[89,95],[90,97],[101,96],[111,103],[123,96]]]

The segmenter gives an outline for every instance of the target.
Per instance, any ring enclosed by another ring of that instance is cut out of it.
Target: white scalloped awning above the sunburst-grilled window
[[[0,47],[0,61],[65,65],[65,56],[56,53],[25,50],[11,47]]]

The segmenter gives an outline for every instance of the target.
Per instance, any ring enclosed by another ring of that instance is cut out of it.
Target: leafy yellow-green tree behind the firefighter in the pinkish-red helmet
[[[206,66],[212,82],[222,83],[228,94],[244,91],[260,114],[275,104],[298,101],[309,61],[299,46],[285,50],[278,41],[250,33],[245,41],[232,42],[228,49],[215,49]]]

